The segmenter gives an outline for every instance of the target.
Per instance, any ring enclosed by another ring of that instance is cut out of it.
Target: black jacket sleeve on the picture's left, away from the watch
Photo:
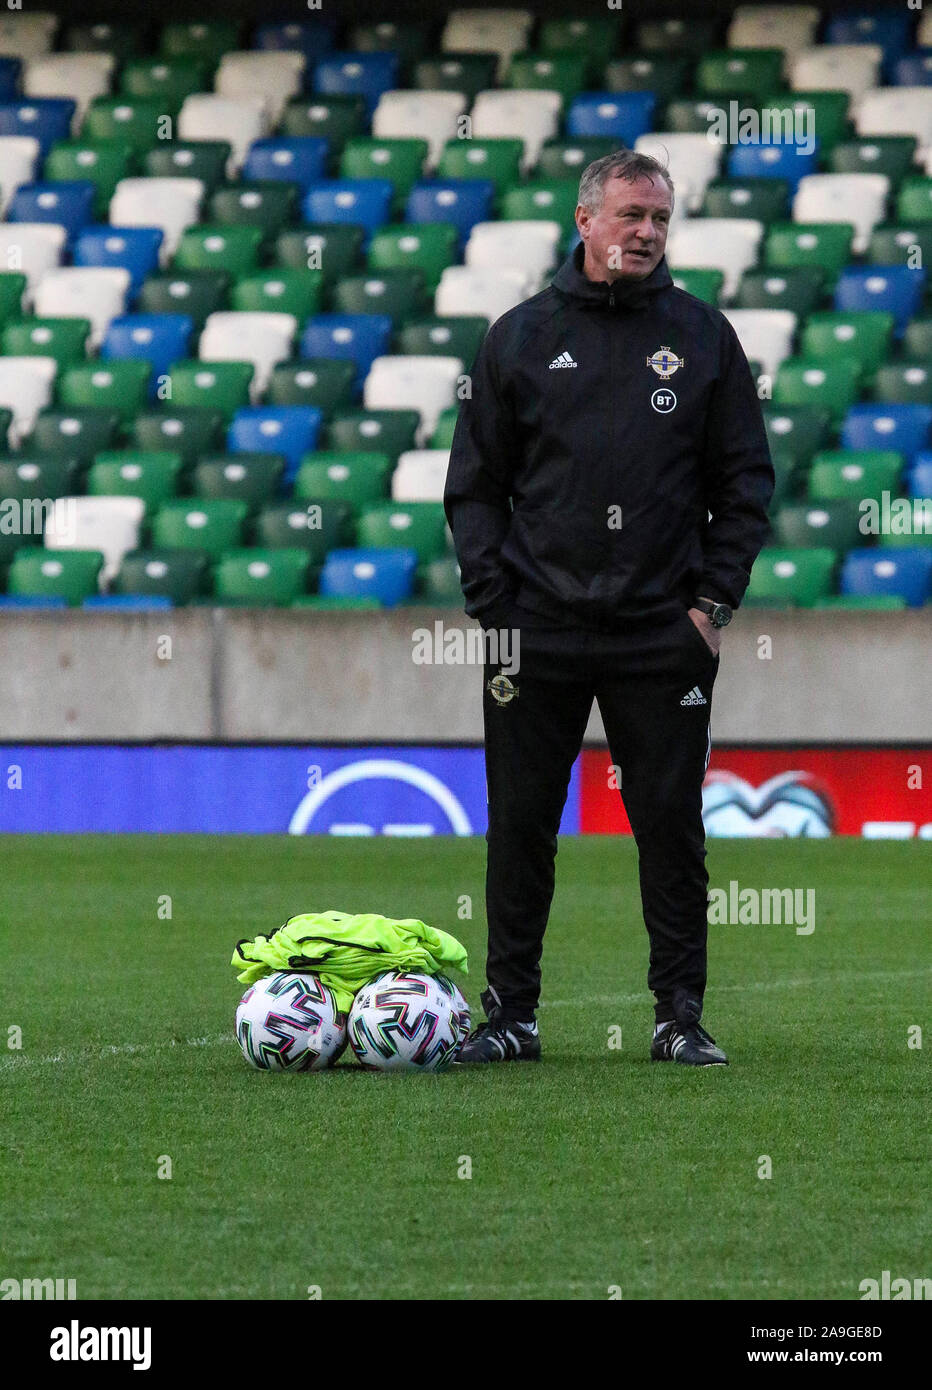
[[[513,598],[500,560],[511,524],[511,481],[517,461],[514,413],[499,375],[500,334],[493,324],[471,373],[471,395],[457,418],[443,506],[465,596],[465,610],[483,627],[500,626]]]

